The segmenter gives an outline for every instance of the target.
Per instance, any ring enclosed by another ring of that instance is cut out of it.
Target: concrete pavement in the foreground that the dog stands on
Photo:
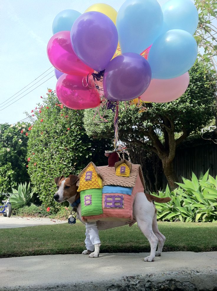
[[[217,252],[50,255],[0,259],[1,291],[217,290]]]

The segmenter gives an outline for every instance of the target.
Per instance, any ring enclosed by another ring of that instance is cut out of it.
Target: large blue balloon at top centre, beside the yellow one
[[[142,53],[160,34],[163,13],[156,0],[126,0],[116,26],[122,53]]]

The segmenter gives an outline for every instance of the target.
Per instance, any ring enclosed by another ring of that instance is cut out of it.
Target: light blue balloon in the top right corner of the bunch
[[[198,26],[198,11],[191,0],[169,0],[162,5],[164,22],[170,29],[182,29],[194,34]]]

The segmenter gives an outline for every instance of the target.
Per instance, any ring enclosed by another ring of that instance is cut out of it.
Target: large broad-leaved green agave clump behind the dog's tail
[[[214,222],[217,221],[217,176],[214,179],[208,174],[197,179],[192,173],[191,180],[183,178],[184,183],[177,183],[178,188],[171,191],[159,191],[154,196],[170,197],[168,203],[155,202],[158,220],[182,222]]]

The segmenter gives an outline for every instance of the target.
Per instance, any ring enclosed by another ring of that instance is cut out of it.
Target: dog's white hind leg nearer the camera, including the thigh
[[[137,220],[138,227],[148,239],[151,246],[150,256],[145,257],[143,260],[147,262],[154,261],[155,252],[157,248],[158,238],[152,230],[152,221],[154,217],[154,204],[147,200],[144,193],[137,193],[134,201],[133,211]]]

